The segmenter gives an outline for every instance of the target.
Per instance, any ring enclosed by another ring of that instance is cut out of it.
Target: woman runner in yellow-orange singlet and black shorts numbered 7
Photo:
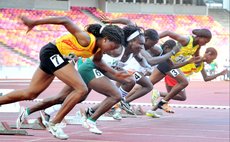
[[[69,31],[69,34],[63,35],[42,47],[40,50],[40,66],[34,73],[28,88],[1,96],[0,105],[35,99],[57,77],[74,90],[63,102],[62,108],[50,123],[49,130],[59,139],[68,139],[68,135],[62,131],[59,123],[79,102],[79,97],[85,96],[88,92],[88,88],[81,76],[74,66],[68,62],[68,57],[79,56],[87,58],[94,55],[93,62],[97,67],[110,72],[118,78],[125,79],[125,77],[129,76],[128,74],[115,71],[101,60],[104,52],[116,49],[123,43],[123,30],[115,25],[103,27],[99,24],[90,24],[84,31],[67,17],[32,20],[25,16],[20,16],[20,19],[28,27],[27,32],[38,25],[55,24],[63,25]],[[23,118],[20,119],[22,120]]]

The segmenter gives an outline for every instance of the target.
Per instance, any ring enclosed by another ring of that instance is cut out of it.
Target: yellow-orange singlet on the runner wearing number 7
[[[65,34],[58,39],[56,39],[56,46],[59,52],[63,56],[69,56],[70,54],[74,54],[77,57],[89,58],[93,53],[93,49],[96,44],[96,38],[93,34],[89,33],[90,36],[90,44],[86,47],[80,45],[77,39],[70,33]],[[97,50],[98,52],[99,50]]]

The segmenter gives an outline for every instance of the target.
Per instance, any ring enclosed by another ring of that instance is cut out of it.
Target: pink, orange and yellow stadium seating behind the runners
[[[145,29],[154,28],[158,32],[170,30],[181,35],[188,35],[193,29],[208,28],[214,35],[209,45],[213,47],[229,46],[228,31],[210,16],[103,13],[94,7],[71,7],[70,11],[2,8],[0,9],[0,43],[12,48],[18,53],[18,56],[25,55],[33,60],[38,60],[40,48],[66,32],[66,29],[63,26],[42,25],[26,34],[26,28],[20,23],[18,16],[28,15],[35,19],[47,16],[68,16],[79,27],[84,28],[88,24],[95,23],[95,20],[83,11],[88,11],[96,17],[102,14],[109,18],[126,17]],[[9,65],[7,59],[5,60],[2,61],[2,64]],[[20,60],[18,62],[15,64],[21,64]],[[10,63],[10,65],[12,64]]]

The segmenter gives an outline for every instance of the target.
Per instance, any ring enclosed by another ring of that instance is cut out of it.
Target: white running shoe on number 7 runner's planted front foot
[[[66,127],[65,123],[57,123],[57,124],[49,123],[48,127],[49,127],[49,131],[54,137],[61,140],[67,140],[69,138],[69,136],[66,135],[62,130],[62,128]]]

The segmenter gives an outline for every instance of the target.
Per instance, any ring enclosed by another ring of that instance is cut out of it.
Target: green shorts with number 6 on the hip
[[[79,65],[78,72],[87,85],[94,78],[104,76],[102,72],[96,69],[96,66],[91,59],[86,59],[81,65]]]

